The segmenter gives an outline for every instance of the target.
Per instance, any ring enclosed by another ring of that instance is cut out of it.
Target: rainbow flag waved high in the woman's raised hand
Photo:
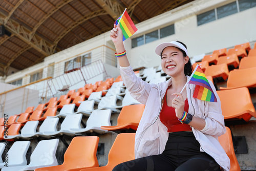
[[[132,19],[128,15],[126,8],[122,15],[120,15],[116,22],[116,25],[120,24],[120,28],[123,32],[123,41],[131,37],[138,29],[135,27]]]

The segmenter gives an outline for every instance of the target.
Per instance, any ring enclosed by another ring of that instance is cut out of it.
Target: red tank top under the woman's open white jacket
[[[167,89],[168,90],[168,89]],[[160,113],[161,122],[167,127],[168,132],[178,132],[178,131],[192,131],[188,124],[181,123],[175,113],[175,109],[172,106],[167,105],[167,90],[165,93],[165,99],[163,102],[163,107]],[[188,101],[185,100],[184,111],[188,112]]]

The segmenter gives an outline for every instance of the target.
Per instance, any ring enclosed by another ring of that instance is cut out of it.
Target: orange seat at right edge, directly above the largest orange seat
[[[230,71],[227,79],[227,87],[220,87],[220,90],[228,90],[234,88],[255,88],[256,87],[256,67],[243,70]]]

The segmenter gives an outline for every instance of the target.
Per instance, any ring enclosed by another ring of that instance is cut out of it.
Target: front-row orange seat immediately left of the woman
[[[108,164],[102,167],[81,169],[80,171],[111,171],[116,165],[122,162],[134,160],[134,142],[135,133],[118,134],[110,149]]]

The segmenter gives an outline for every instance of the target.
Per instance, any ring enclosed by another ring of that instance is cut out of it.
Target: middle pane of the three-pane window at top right
[[[217,8],[217,16],[223,18],[238,12],[237,2],[233,2],[222,7]]]

